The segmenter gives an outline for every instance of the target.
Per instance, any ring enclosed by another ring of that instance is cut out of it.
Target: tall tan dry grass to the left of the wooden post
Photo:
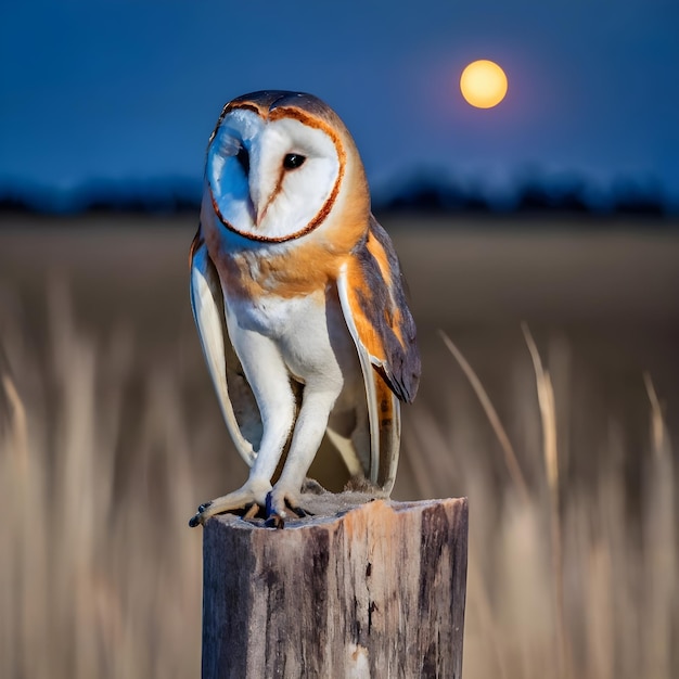
[[[63,294],[52,309],[43,370],[5,328],[25,389],[3,371],[0,676],[195,676],[201,541],[185,526],[195,490],[180,384],[170,364],[149,367],[124,463],[133,347],[80,334]]]

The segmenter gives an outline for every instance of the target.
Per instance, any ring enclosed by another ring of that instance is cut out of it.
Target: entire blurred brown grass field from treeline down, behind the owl
[[[191,318],[195,223],[3,220],[0,677],[197,676],[201,533],[187,521],[246,469]],[[383,223],[423,354],[394,497],[470,498],[464,676],[679,676],[679,235]]]

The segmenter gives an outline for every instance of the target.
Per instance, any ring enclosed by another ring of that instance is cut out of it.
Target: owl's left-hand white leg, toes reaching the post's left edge
[[[271,477],[295,419],[295,396],[290,374],[274,345],[254,332],[241,331],[238,336],[245,340],[239,343],[242,351],[241,346],[235,348],[261,414],[261,444],[245,484],[233,492],[201,504],[189,522],[192,527],[204,524],[215,514],[243,510],[252,504],[267,505]]]

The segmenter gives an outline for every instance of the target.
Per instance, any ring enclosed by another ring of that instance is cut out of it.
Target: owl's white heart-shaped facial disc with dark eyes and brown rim
[[[336,139],[297,117],[230,111],[207,150],[213,205],[231,230],[285,241],[320,226],[340,190]]]

